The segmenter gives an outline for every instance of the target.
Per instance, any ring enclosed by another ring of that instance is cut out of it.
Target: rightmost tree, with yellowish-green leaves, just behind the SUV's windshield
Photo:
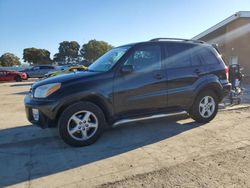
[[[105,41],[90,40],[83,44],[80,53],[87,61],[93,62],[111,48],[113,47]]]

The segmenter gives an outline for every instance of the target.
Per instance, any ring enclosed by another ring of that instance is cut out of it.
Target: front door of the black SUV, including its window
[[[166,107],[166,74],[161,60],[160,45],[143,45],[133,50],[123,63],[132,65],[133,71],[124,74],[118,70],[115,75],[116,114],[140,115]]]

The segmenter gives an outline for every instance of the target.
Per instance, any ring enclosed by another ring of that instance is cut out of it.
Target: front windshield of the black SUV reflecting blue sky
[[[88,71],[106,72],[126,53],[131,46],[113,48],[88,67]]]

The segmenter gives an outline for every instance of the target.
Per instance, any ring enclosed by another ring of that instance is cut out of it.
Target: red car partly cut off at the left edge
[[[27,79],[27,74],[24,72],[0,70],[0,81],[16,81],[21,82]]]

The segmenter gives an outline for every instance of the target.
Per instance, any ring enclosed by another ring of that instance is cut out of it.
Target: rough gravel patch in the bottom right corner
[[[250,187],[250,146],[103,184],[118,187]]]

